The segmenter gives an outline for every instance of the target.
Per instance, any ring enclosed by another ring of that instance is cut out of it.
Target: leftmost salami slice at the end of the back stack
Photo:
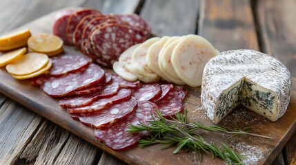
[[[59,12],[55,18],[55,23],[52,26],[53,34],[59,36],[63,40],[63,44],[65,45],[68,45],[66,34],[67,22],[70,15],[75,12],[77,12],[76,9],[63,10]]]

